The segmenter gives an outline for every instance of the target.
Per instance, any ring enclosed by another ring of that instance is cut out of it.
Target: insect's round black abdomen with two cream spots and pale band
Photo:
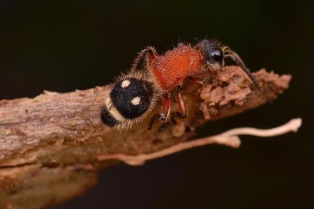
[[[147,82],[143,73],[130,71],[121,75],[105,97],[105,105],[100,113],[101,121],[120,130],[128,129],[149,114],[155,106],[156,96],[153,86]]]

